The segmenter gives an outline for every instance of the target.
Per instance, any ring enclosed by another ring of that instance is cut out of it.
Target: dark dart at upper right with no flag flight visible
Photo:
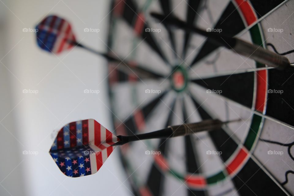
[[[151,16],[165,25],[175,26],[177,28],[182,28],[189,32],[195,32],[202,36],[209,37],[218,46],[226,47],[227,49],[239,55],[251,58],[257,62],[266,64],[270,67],[275,67],[277,69],[282,70],[288,66],[292,66],[288,58],[277,53],[274,53],[272,51],[269,51],[258,45],[243,41],[235,37],[220,35],[220,33],[217,32],[204,31],[200,28],[195,27],[194,25],[190,25],[185,21],[180,20],[177,17],[164,16],[158,13],[151,13]]]

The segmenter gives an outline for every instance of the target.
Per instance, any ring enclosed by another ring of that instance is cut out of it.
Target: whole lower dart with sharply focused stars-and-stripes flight
[[[96,173],[118,145],[219,130],[224,124],[239,120],[222,122],[218,119],[209,119],[130,136],[115,136],[94,119],[81,120],[71,122],[58,131],[49,153],[63,174],[80,177]]]

